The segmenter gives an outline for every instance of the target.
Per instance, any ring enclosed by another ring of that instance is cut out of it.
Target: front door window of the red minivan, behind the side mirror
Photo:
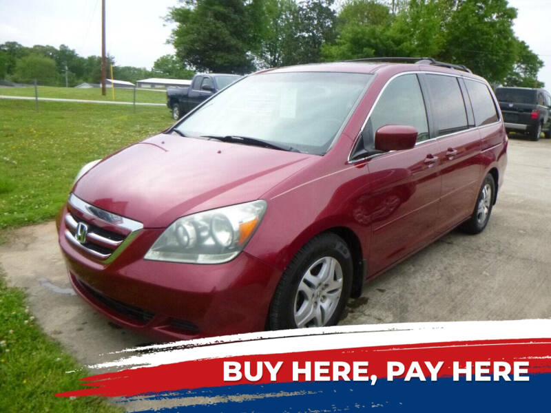
[[[364,147],[373,149],[375,132],[384,125],[417,128],[417,142],[428,139],[425,103],[417,75],[406,74],[386,86],[364,129]]]

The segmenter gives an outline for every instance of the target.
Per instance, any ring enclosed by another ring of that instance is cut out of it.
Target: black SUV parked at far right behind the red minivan
[[[529,134],[538,140],[541,132],[551,138],[551,94],[544,89],[497,87],[495,90],[507,131]]]

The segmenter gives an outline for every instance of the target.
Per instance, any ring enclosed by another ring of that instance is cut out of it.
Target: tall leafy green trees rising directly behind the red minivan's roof
[[[198,71],[430,56],[492,83],[542,86],[516,17],[507,0],[180,0],[167,20],[178,60]]]

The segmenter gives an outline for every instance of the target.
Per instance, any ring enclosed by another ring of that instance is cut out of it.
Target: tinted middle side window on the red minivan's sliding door
[[[434,106],[437,136],[467,129],[467,112],[457,78],[428,74],[426,79]]]

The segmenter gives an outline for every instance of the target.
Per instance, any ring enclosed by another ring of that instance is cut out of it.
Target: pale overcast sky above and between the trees
[[[163,54],[171,25],[163,21],[178,0],[106,0],[107,52],[117,65],[147,67]],[[545,66],[539,79],[551,90],[551,0],[509,0],[518,9],[514,32],[539,54]],[[0,44],[17,41],[59,47],[81,56],[101,54],[101,0],[0,0]]]

